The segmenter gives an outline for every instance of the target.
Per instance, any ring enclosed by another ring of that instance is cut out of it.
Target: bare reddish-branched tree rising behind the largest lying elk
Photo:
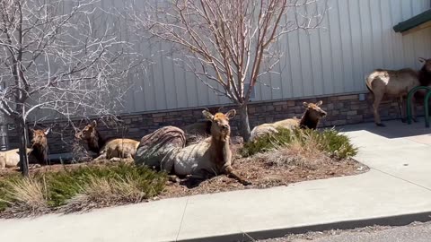
[[[147,0],[133,10],[138,30],[171,43],[182,56],[176,61],[238,105],[248,141],[251,91],[279,62],[277,40],[317,28],[327,6],[325,0]]]

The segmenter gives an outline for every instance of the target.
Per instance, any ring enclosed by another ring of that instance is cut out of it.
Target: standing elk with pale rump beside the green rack
[[[418,58],[418,60],[424,63],[418,72],[410,68],[400,70],[375,69],[366,77],[366,88],[374,98],[373,112],[375,125],[385,126],[379,115],[379,106],[385,95],[398,98],[401,121],[406,122],[404,97],[413,88],[419,85],[428,86],[431,82],[431,59]],[[415,103],[414,97],[412,103]],[[417,122],[416,107],[413,108],[413,120]]]

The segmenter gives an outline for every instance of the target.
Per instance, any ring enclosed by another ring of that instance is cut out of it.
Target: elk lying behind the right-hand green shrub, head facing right
[[[277,128],[286,128],[290,130],[297,127],[316,129],[317,125],[319,125],[321,118],[326,117],[327,115],[327,113],[323,109],[321,109],[321,104],[323,104],[322,101],[319,101],[317,103],[303,102],[303,107],[305,108],[305,111],[301,119],[293,117],[277,121],[272,124],[262,124],[255,126],[251,130],[251,142],[255,141],[256,138],[262,135],[278,133]]]

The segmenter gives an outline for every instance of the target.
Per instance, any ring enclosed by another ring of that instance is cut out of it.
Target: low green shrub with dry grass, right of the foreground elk
[[[310,149],[325,151],[337,159],[346,159],[357,153],[356,147],[350,143],[348,137],[344,134],[339,134],[335,129],[318,131],[279,128],[277,130],[277,134],[267,134],[259,137],[255,142],[245,143],[241,151],[242,156],[248,157],[257,153],[288,147],[292,143],[299,143],[303,146],[310,146]]]

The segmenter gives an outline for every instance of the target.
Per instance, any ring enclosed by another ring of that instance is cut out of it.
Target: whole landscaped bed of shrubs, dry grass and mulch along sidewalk
[[[291,183],[351,176],[367,170],[346,136],[335,130],[278,130],[255,143],[232,145],[235,171],[251,181],[242,186],[224,175],[205,181],[167,174],[129,163],[81,163],[31,169],[30,178],[0,171],[0,217],[48,212],[81,212],[94,208],[192,194],[287,186]]]

